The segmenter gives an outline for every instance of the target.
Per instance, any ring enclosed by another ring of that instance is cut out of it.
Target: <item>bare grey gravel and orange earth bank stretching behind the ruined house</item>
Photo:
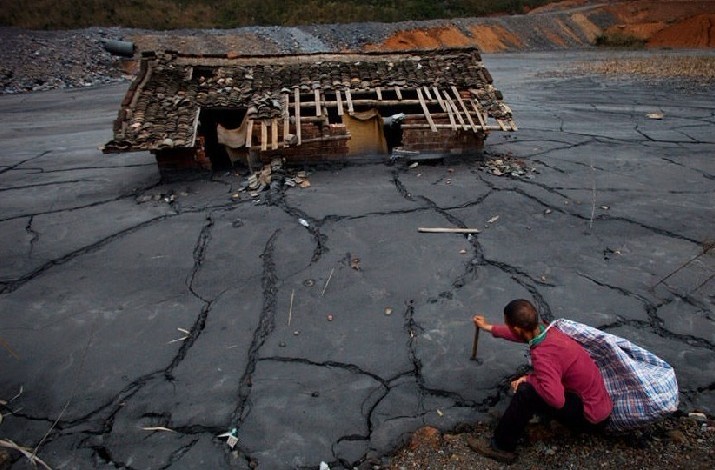
[[[589,48],[599,37],[625,37],[649,47],[715,44],[715,1],[570,0],[528,14],[428,22],[355,23],[231,30],[146,31],[88,28],[26,31],[0,28],[0,94],[85,87],[131,78],[136,63],[104,50],[132,41],[137,52],[315,53],[476,46],[483,52]]]

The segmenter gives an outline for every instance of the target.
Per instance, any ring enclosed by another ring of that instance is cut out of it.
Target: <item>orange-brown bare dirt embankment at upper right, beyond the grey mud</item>
[[[484,52],[578,48],[619,36],[648,47],[715,47],[712,0],[567,0],[528,14],[471,18],[394,32],[368,50],[473,45]]]

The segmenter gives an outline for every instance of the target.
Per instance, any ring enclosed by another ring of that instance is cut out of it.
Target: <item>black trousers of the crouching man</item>
[[[567,392],[564,407],[553,408],[536,393],[531,384],[522,382],[494,431],[494,444],[497,448],[513,452],[524,428],[537,413],[556,419],[578,431],[595,431],[606,425],[606,421],[593,424],[583,416],[583,402],[578,395]]]

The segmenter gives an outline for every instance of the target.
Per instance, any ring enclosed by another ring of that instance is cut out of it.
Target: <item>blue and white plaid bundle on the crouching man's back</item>
[[[678,409],[678,383],[667,362],[582,323],[562,318],[551,326],[580,343],[598,365],[613,401],[609,429],[639,427]]]

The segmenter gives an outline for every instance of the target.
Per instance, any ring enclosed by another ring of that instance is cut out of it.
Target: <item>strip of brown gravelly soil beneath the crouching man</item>
[[[472,451],[468,437],[488,438],[485,423],[452,432],[423,428],[383,468],[502,469],[504,464]],[[673,417],[619,435],[574,434],[557,423],[530,424],[514,468],[715,468],[715,421]],[[538,464],[537,464],[538,463]]]

